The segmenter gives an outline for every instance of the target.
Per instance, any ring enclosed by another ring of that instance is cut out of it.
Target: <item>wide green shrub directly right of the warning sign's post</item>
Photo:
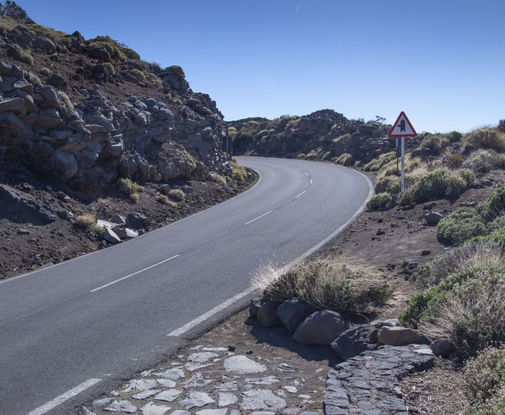
[[[462,177],[463,176],[463,177]],[[451,183],[456,184],[460,190],[466,189],[471,179],[475,181],[475,176],[471,177],[468,171],[459,173],[452,172],[447,169],[440,169],[424,175],[408,190],[406,190],[400,198],[400,205],[405,206],[412,202],[424,203],[429,200],[443,198],[445,190]]]

